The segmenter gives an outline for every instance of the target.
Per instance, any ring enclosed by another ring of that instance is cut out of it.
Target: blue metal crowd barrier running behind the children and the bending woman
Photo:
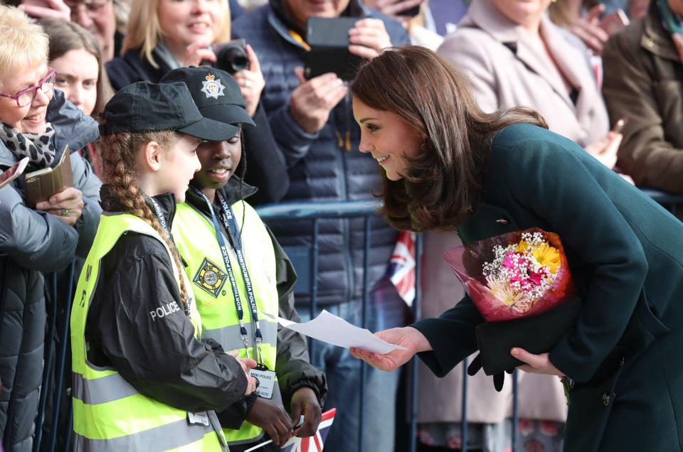
[[[677,204],[683,204],[683,195],[674,195],[671,193],[664,193],[660,190],[644,189],[642,190],[650,198],[660,203],[669,212],[676,213]],[[313,222],[313,244],[307,253],[301,253],[301,250],[294,249],[291,257],[293,262],[295,262],[295,267],[297,267],[297,273],[301,276],[301,281],[307,281],[310,286],[311,294],[311,313],[317,313],[316,306],[316,295],[317,295],[317,235],[318,235],[318,221],[322,218],[351,218],[351,217],[364,217],[365,218],[365,230],[366,230],[366,242],[365,242],[365,264],[367,265],[368,253],[369,253],[369,234],[370,234],[370,218],[376,215],[377,204],[374,202],[335,202],[335,203],[280,203],[273,205],[264,205],[257,209],[259,215],[263,217],[266,222],[274,220],[292,220],[298,219],[309,219]],[[421,254],[421,242],[418,236],[417,241],[417,256]],[[418,266],[416,269],[416,280],[420,281],[420,259],[416,259]],[[302,267],[303,266],[303,267]],[[303,271],[302,271],[303,269]],[[4,318],[4,308],[5,308],[5,298],[6,298],[6,284],[5,276],[7,271],[6,264],[3,265],[2,274],[0,276],[0,333],[2,330]],[[74,276],[74,263],[72,262],[67,273],[70,276],[69,281],[73,281]],[[365,306],[368,301],[368,281],[364,281],[364,309],[362,322],[365,323]],[[71,400],[67,398],[62,400],[61,386],[63,381],[70,381],[70,363],[66,362],[66,356],[68,351],[68,343],[70,339],[69,335],[69,323],[70,323],[70,301],[73,300],[73,284],[70,283],[68,286],[68,291],[65,294],[57,293],[57,277],[55,274],[46,275],[46,291],[50,292],[50,299],[52,301],[51,305],[48,306],[47,315],[47,328],[46,333],[46,346],[45,346],[45,362],[46,365],[43,368],[43,383],[41,387],[41,399],[38,407],[38,412],[36,413],[36,434],[33,441],[33,451],[47,451],[53,452],[55,450],[55,441],[57,432],[59,430],[70,431],[72,427],[71,410],[68,410],[68,419],[59,419],[59,409],[62,404],[68,404],[70,407]],[[58,296],[66,296],[67,298],[60,298]],[[419,298],[420,290],[419,285],[415,290],[415,301],[413,302],[413,313],[415,314],[415,319],[418,318],[417,313],[419,309]],[[60,316],[58,311],[58,306],[65,306],[65,313]],[[54,362],[55,362],[55,372],[53,374],[52,370],[52,354],[53,354],[53,336],[56,335],[58,338],[57,344],[59,345],[58,350],[55,351]],[[411,382],[409,383],[410,388],[410,407],[408,409],[408,414],[411,419],[411,432],[410,432],[410,442],[408,448],[411,452],[415,452],[417,447],[417,424],[416,424],[416,414],[417,414],[417,360],[413,358],[411,364],[411,369],[413,370],[411,376]],[[361,366],[361,372],[364,372],[364,365]],[[463,367],[463,384],[462,384],[462,451],[467,451],[467,362]],[[361,377],[364,373],[361,374]],[[46,424],[45,413],[46,405],[48,404],[48,395],[50,394],[51,387],[54,387],[52,395],[52,407],[51,419],[48,419]],[[361,385],[361,401],[363,387]],[[517,371],[513,374],[513,392],[514,392],[514,404],[513,404],[513,426],[512,426],[512,452],[516,450],[515,442],[517,438]],[[363,406],[361,403],[361,411],[359,415],[362,418]],[[61,422],[60,422],[61,421]],[[66,425],[63,426],[62,424]],[[362,428],[362,419],[359,423]],[[49,429],[46,430],[50,434],[48,437],[43,437],[43,427],[48,426]],[[6,437],[5,435],[3,435]],[[362,431],[361,435],[362,437]],[[69,439],[70,434],[66,434],[66,443],[60,445],[63,450],[69,450]],[[6,445],[5,445],[6,446]],[[359,444],[359,452],[362,452],[361,445]]]

